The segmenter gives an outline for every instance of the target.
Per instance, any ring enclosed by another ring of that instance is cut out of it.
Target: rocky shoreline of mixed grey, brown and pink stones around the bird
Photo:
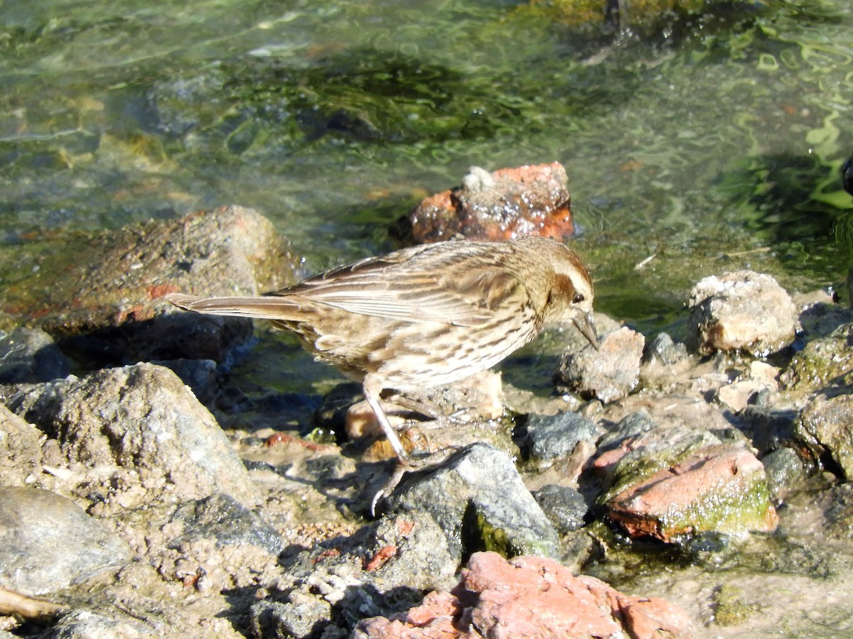
[[[836,610],[853,594],[853,313],[826,293],[713,273],[685,300],[686,343],[599,315],[601,351],[569,348],[552,397],[492,373],[432,396],[467,421],[403,437],[458,450],[371,521],[392,463],[369,420],[335,409],[351,387],[299,408],[348,438],[276,428],[288,398],[252,404],[219,366],[251,357],[252,325],[160,299],[292,281],[263,216],[229,207],[32,259],[0,300],[0,637],[853,625]],[[653,569],[622,561],[636,548]],[[49,604],[26,612],[34,599]]]

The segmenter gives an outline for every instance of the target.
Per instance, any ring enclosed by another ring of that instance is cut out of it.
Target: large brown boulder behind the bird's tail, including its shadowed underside
[[[61,244],[24,244],[5,257],[0,268],[26,274],[0,291],[0,311],[38,325],[63,349],[102,366],[183,355],[222,360],[252,337],[251,322],[190,320],[160,297],[175,291],[255,295],[293,279],[275,227],[241,206]]]

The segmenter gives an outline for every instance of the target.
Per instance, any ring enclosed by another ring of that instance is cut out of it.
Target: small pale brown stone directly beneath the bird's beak
[[[567,352],[557,371],[558,387],[565,384],[604,403],[620,400],[640,382],[640,361],[645,338],[623,326],[600,340],[598,350],[588,345]]]

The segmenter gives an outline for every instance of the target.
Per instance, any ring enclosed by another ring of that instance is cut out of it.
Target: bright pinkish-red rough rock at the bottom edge
[[[471,557],[450,592],[432,592],[395,619],[367,619],[353,639],[428,637],[693,636],[688,615],[657,598],[627,596],[541,557]]]

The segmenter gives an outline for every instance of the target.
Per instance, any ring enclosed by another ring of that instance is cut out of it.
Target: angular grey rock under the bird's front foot
[[[485,444],[467,446],[438,469],[412,476],[388,504],[391,512],[432,516],[459,559],[478,550],[557,556],[554,527],[512,460]]]

